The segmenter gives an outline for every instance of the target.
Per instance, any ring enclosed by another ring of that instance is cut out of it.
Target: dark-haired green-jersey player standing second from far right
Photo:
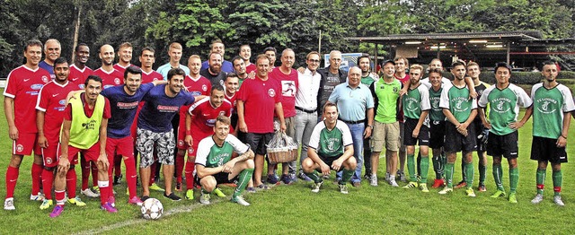
[[[493,179],[497,191],[491,196],[494,198],[505,196],[501,170],[501,159],[505,157],[509,162],[509,202],[517,203],[517,184],[519,181],[519,169],[517,168],[519,133],[517,129],[523,126],[528,118],[526,113],[521,121],[517,122],[519,108],[528,108],[533,103],[522,88],[509,83],[511,66],[507,63],[495,65],[495,79],[497,83],[486,89],[479,99],[479,113],[483,126],[490,129],[487,140],[487,154],[493,156]],[[485,117],[483,109],[489,103],[489,121]]]

